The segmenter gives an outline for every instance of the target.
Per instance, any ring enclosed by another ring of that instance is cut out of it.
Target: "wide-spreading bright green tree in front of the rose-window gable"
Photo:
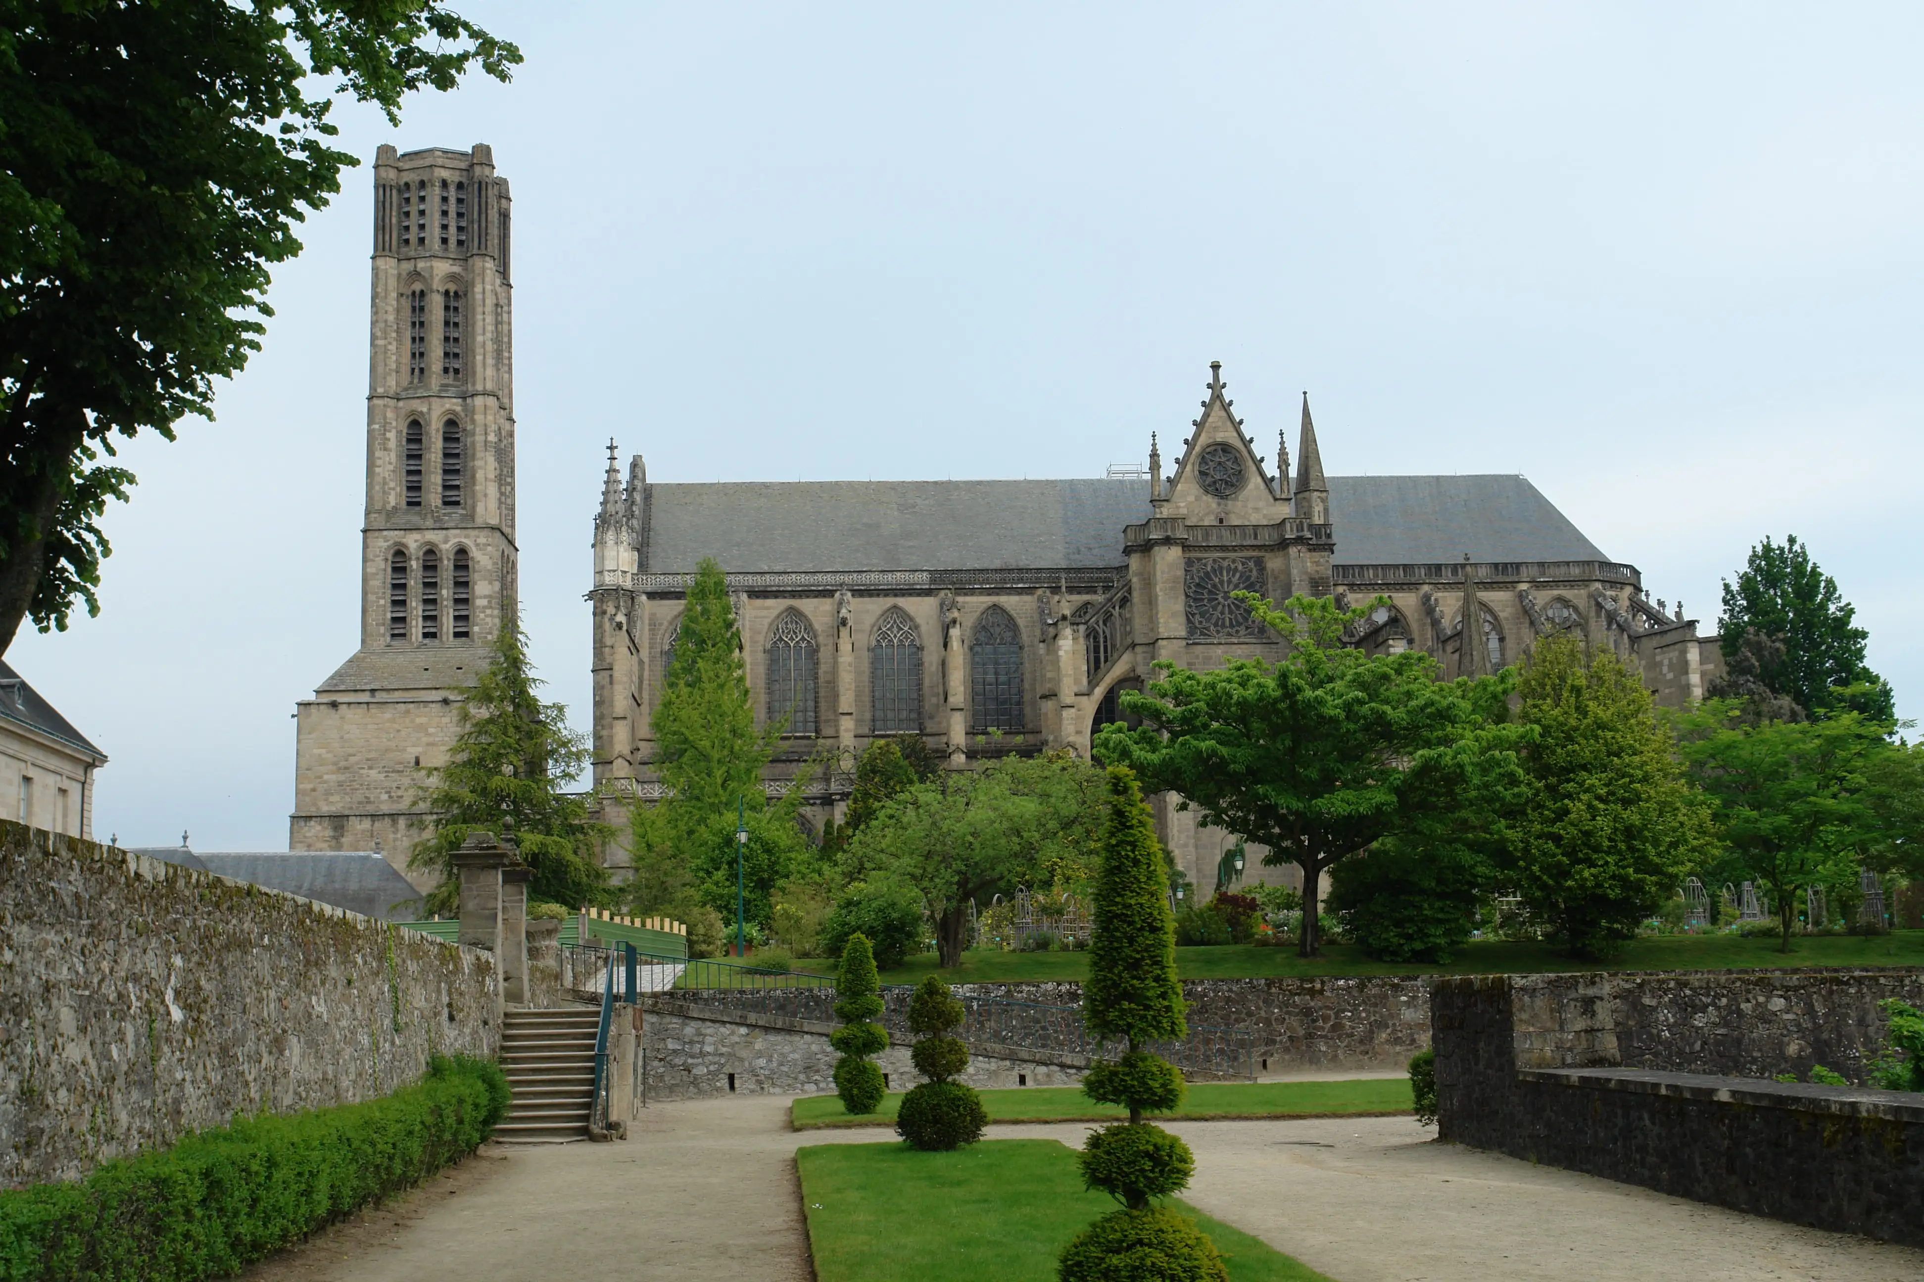
[[[1229,659],[1212,673],[1158,663],[1162,680],[1122,694],[1143,725],[1102,727],[1095,752],[1149,788],[1181,794],[1204,823],[1268,846],[1266,865],[1295,863],[1310,905],[1297,951],[1314,957],[1322,875],[1424,815],[1460,813],[1474,798],[1431,780],[1478,782],[1495,771],[1476,757],[1514,753],[1516,728],[1501,725],[1512,675],[1439,682],[1428,653],[1370,657],[1343,646],[1343,629],[1370,605],[1293,596],[1274,609],[1237,598],[1289,642],[1289,655]]]

